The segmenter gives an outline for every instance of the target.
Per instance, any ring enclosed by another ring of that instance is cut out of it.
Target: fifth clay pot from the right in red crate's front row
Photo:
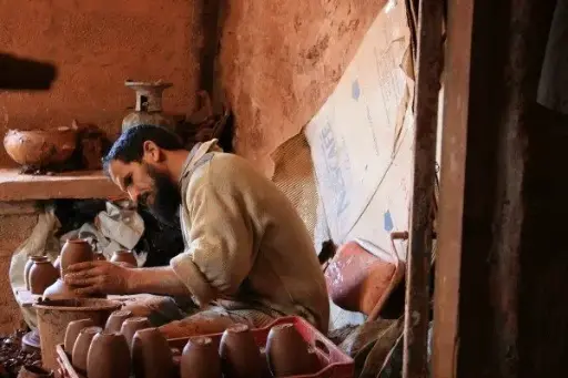
[[[130,360],[130,350],[124,336],[118,333],[99,333],[94,336],[89,349],[87,376],[89,378],[129,378]]]

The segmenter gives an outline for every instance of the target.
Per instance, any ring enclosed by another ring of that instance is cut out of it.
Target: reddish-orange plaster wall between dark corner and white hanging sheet
[[[220,70],[237,153],[272,175],[268,154],[325,102],[385,2],[230,2]]]

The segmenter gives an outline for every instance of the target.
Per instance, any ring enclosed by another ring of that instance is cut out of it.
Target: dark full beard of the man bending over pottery
[[[149,204],[149,193],[146,193],[142,196],[141,203],[159,222],[169,226],[175,225],[181,204],[180,190],[171,182],[166,174],[158,172],[151,165],[146,164],[146,172],[153,181],[154,201],[152,204]]]

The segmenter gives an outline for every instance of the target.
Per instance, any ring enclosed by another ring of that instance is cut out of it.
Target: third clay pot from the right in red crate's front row
[[[182,378],[221,378],[221,359],[209,337],[191,338],[183,348]]]

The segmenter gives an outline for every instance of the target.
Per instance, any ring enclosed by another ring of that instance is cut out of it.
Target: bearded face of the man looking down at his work
[[[181,203],[180,191],[160,166],[144,161],[112,161],[109,174],[132,201],[150,210],[160,222],[170,225],[175,222]]]

